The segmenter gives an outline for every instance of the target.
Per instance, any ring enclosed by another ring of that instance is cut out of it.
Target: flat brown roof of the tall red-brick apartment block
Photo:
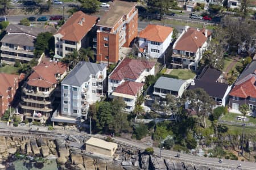
[[[102,27],[114,27],[123,15],[127,15],[133,7],[136,6],[134,2],[114,1],[110,6],[110,10],[100,19],[97,25]]]

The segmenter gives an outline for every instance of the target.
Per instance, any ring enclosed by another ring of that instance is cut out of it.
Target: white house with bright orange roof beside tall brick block
[[[171,27],[162,25],[147,25],[139,33],[139,48],[149,58],[160,58],[164,56],[166,49],[172,42]],[[141,53],[139,53],[139,57]]]

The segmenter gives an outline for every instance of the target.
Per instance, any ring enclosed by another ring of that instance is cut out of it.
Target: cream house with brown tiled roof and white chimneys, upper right
[[[173,45],[172,67],[196,71],[210,39],[211,32],[207,29],[200,30],[185,26],[184,31]]]

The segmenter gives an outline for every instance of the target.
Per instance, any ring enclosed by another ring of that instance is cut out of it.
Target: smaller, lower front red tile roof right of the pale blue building
[[[118,86],[114,92],[119,94],[126,94],[131,96],[137,96],[139,90],[144,86],[144,83],[125,81]]]

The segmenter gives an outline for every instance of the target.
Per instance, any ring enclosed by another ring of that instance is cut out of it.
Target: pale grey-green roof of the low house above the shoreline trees
[[[161,76],[155,83],[155,88],[161,88],[165,90],[171,91],[179,91],[182,84],[186,83],[186,80],[181,79],[173,79]]]

